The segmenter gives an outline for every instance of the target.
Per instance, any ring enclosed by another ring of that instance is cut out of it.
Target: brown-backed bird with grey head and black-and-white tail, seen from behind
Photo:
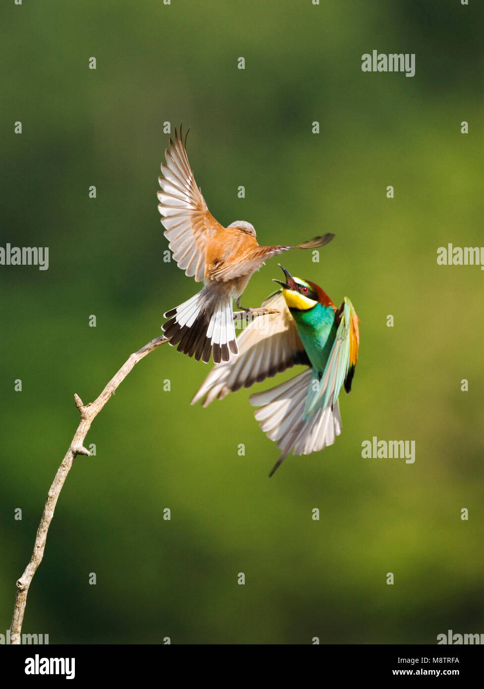
[[[170,345],[196,360],[228,361],[229,350],[238,353],[232,300],[240,299],[252,274],[271,256],[288,249],[315,249],[332,240],[334,234],[314,237],[296,246],[261,247],[250,223],[236,220],[228,227],[218,223],[208,210],[188,163],[185,142],[175,130],[174,141],[165,150],[158,192],[161,223],[173,258],[185,275],[203,280],[203,289],[188,301],[165,313],[162,326]]]

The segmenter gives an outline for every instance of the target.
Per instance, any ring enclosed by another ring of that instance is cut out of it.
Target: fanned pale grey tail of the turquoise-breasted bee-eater
[[[333,409],[316,409],[307,421],[303,420],[312,377],[312,369],[307,369],[270,390],[250,395],[250,404],[261,407],[255,413],[256,420],[261,422],[261,429],[270,440],[276,440],[277,447],[282,450],[270,476],[291,450],[293,455],[309,455],[332,445],[336,435],[341,433],[337,401]]]

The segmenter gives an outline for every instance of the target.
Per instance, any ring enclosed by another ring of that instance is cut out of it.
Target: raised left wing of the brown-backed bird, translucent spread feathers
[[[205,274],[207,239],[223,232],[223,227],[208,210],[196,186],[181,127],[180,137],[175,130],[174,138],[174,141],[170,138],[170,146],[165,150],[166,165],[161,163],[163,176],[158,178],[162,189],[158,192],[158,210],[163,216],[161,223],[174,260],[185,275],[195,276],[196,282],[200,282]]]

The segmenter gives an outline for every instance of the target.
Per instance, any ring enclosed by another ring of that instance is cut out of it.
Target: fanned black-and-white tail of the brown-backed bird
[[[207,363],[212,353],[214,364],[228,361],[229,350],[237,354],[232,299],[213,296],[202,289],[176,309],[165,313],[169,318],[161,328],[170,345],[178,351]]]

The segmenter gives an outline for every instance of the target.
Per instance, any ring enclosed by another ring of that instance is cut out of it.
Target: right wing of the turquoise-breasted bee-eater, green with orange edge
[[[336,316],[340,318],[336,338],[334,338],[319,384],[310,387],[307,393],[303,414],[305,418],[310,418],[314,409],[334,407],[343,384],[347,393],[351,390],[354,367],[358,359],[359,318],[356,316],[352,302],[347,297],[336,312]]]

